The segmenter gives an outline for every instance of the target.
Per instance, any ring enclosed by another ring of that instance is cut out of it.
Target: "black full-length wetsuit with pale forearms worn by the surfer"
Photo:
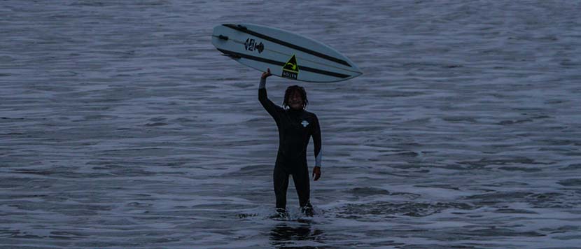
[[[315,166],[321,166],[321,129],[314,113],[292,108],[283,109],[267,97],[265,81],[258,89],[258,100],[274,118],[279,128],[279,152],[274,166],[274,194],[276,208],[286,208],[288,176],[293,175],[295,187],[302,208],[310,207],[309,169],[307,167],[307,145],[313,137]]]

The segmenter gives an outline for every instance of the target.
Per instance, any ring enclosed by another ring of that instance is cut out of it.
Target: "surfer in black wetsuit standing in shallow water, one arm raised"
[[[292,85],[286,89],[283,107],[272,103],[267,97],[266,78],[271,76],[270,69],[262,73],[258,87],[258,100],[262,107],[274,118],[279,129],[279,151],[274,164],[274,194],[276,195],[276,212],[279,218],[288,217],[286,212],[286,190],[288,176],[293,175],[295,188],[299,197],[301,212],[312,216],[313,206],[309,200],[310,184],[307,167],[307,145],[313,137],[315,167],[314,180],[321,177],[321,129],[314,113],[304,111],[309,104],[307,92],[303,87]]]

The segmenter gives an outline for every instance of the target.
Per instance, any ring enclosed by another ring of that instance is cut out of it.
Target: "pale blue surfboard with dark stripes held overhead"
[[[212,44],[237,62],[275,76],[315,83],[349,80],[363,72],[337,50],[311,38],[258,24],[214,27]]]

